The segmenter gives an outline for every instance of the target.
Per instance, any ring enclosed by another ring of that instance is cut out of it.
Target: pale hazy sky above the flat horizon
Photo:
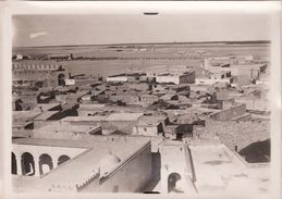
[[[268,40],[258,14],[16,15],[13,46]]]

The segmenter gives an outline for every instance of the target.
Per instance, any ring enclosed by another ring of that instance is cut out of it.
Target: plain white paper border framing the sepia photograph
[[[131,14],[136,12],[184,13],[265,13],[271,16],[271,191],[263,198],[281,197],[281,2],[280,1],[16,1],[0,2],[0,192],[3,198],[186,198],[185,195],[134,194],[13,194],[11,186],[11,129],[12,129],[12,15],[15,14]],[[196,195],[193,198],[243,198],[237,196]],[[261,196],[244,196],[261,198]]]

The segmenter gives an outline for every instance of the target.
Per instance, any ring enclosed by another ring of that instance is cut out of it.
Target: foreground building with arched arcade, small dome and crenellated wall
[[[187,146],[175,144],[134,136],[13,139],[13,188],[17,192],[196,192]],[[175,152],[182,156],[177,162],[171,161]]]

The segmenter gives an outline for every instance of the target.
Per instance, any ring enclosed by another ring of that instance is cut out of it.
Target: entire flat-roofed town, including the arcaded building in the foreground
[[[211,186],[237,191],[244,172],[243,183],[260,190],[268,167],[256,165],[256,184],[245,164],[270,161],[268,75],[267,62],[249,55],[102,78],[17,60],[14,188],[195,194],[213,191]]]

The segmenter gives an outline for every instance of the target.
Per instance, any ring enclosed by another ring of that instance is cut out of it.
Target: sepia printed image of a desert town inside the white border
[[[271,194],[272,17],[13,14],[12,191]]]

